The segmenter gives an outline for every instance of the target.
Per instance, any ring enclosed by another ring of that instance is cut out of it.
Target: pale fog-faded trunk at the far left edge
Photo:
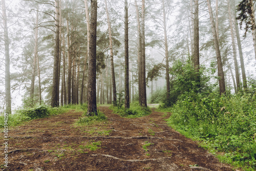
[[[11,114],[10,52],[5,0],[2,0],[4,41],[5,41],[5,112]]]

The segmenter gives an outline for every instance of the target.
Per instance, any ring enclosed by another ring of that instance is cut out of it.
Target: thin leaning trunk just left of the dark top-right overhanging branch
[[[233,20],[234,20],[234,28],[236,29],[236,35],[237,35],[237,42],[238,42],[238,51],[239,51],[239,57],[240,57],[240,64],[241,64],[241,70],[242,70],[242,77],[243,77],[243,87],[246,90],[247,87],[247,79],[246,79],[246,73],[245,73],[245,67],[244,67],[244,57],[243,57],[243,51],[242,51],[242,45],[241,45],[241,39],[239,34],[239,28],[238,28],[238,20],[237,20],[237,12],[236,12],[236,5],[233,2]]]

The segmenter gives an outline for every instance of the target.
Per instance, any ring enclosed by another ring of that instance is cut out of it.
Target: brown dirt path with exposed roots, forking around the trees
[[[82,113],[73,111],[15,127],[9,168],[2,170],[232,170],[168,127],[163,119],[169,115],[153,110],[127,119],[99,109],[108,121],[74,126]]]

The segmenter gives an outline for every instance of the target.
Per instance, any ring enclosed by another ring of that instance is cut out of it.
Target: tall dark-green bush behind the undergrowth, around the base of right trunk
[[[175,61],[173,68],[170,70],[170,74],[173,75],[173,79],[170,81],[170,97],[161,100],[164,101],[161,107],[167,108],[174,105],[177,100],[183,98],[185,92],[211,92],[216,86],[210,86],[208,83],[212,77],[211,75],[215,73],[213,66],[213,63],[211,63],[211,67],[206,69],[201,65],[199,72],[197,72],[194,66],[191,65],[189,57],[185,63],[181,60]]]

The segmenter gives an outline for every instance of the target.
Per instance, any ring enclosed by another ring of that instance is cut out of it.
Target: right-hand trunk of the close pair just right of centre
[[[146,107],[146,65],[145,65],[145,0],[142,0],[142,8],[141,8],[141,105]],[[168,59],[166,59],[168,61]],[[168,63],[166,63],[168,65]],[[169,66],[169,65],[168,65]],[[169,68],[168,68],[169,69]],[[168,73],[169,74],[169,73]],[[167,74],[167,75],[168,75]],[[167,78],[166,78],[167,79]],[[167,88],[168,89],[168,88]]]

